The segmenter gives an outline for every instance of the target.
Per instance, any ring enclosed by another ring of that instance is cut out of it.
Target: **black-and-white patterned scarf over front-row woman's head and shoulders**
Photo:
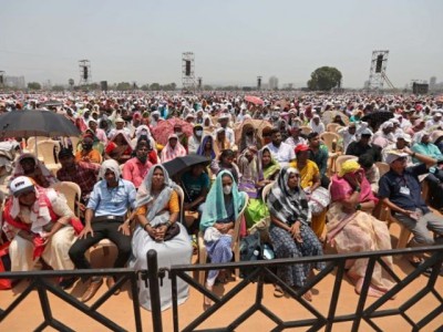
[[[278,179],[274,183],[269,196],[269,212],[280,221],[291,226],[296,221],[303,225],[310,222],[308,199],[300,184],[297,188],[289,188],[288,179],[292,174],[299,174],[297,168],[281,168]]]

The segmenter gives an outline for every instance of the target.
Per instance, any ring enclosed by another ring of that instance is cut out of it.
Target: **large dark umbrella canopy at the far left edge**
[[[51,111],[11,111],[0,115],[0,137],[79,136],[78,127]]]

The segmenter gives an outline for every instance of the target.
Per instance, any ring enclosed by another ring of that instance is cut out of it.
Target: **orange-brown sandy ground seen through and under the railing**
[[[391,232],[395,234],[395,225],[392,226]],[[396,239],[394,239],[396,240]],[[105,260],[102,258],[102,249],[96,249],[93,255],[93,263],[95,267],[110,266],[110,261],[113,259],[114,252],[111,250],[111,255]],[[194,257],[194,260],[196,257]],[[399,277],[403,278],[406,273],[412,271],[412,267],[404,259],[395,259],[395,272]],[[195,276],[196,277],[196,276]],[[422,289],[427,282],[426,277],[420,277],[412,284],[403,289],[394,300],[389,301],[382,309],[398,308],[404,303],[411,295],[415,294]],[[331,273],[323,279],[313,290],[313,301],[311,304],[322,314],[327,315],[332,287],[334,281],[334,274]],[[223,294],[229,291],[236,284],[235,281],[230,281],[227,284],[217,286],[215,288],[216,293]],[[25,282],[19,283],[12,291],[0,292],[0,308],[4,309],[19,293],[24,289]],[[244,312],[255,301],[257,284],[249,284],[246,289],[236,294],[236,297],[228,302],[222,310],[216,312],[209,318],[202,328],[223,328],[228,325],[234,319],[236,319],[241,312]],[[74,288],[68,292],[80,298],[83,293],[84,286],[78,282]],[[103,284],[99,290],[99,293],[103,293],[106,290],[106,286]],[[439,277],[436,284],[437,292],[443,295],[443,278]],[[305,308],[302,308],[297,301],[290,298],[277,299],[272,294],[274,287],[271,284],[265,286],[264,300],[265,307],[270,309],[281,320],[297,320],[313,318]],[[353,290],[353,286],[349,280],[342,281],[342,288],[340,292],[337,314],[352,313],[356,310],[359,297]],[[367,305],[372,303],[374,299],[369,298]],[[107,329],[94,322],[92,319],[82,314],[76,309],[73,309],[69,304],[64,303],[59,298],[50,294],[50,303],[54,318],[62,321],[75,331],[107,331]],[[90,303],[89,303],[90,304]],[[426,295],[415,305],[413,305],[408,314],[414,320],[419,321],[425,314],[439,307],[439,301],[434,295]],[[188,300],[178,308],[179,314],[179,328],[184,329],[190,321],[197,318],[203,312],[203,295],[190,288]],[[112,297],[105,302],[99,312],[112,318],[114,322],[122,325],[128,331],[134,331],[134,319],[132,311],[132,300],[127,287],[116,297]],[[168,309],[163,312],[163,328],[164,331],[173,331],[172,310]],[[37,291],[33,291],[29,297],[3,321],[0,323],[0,331],[33,331],[43,321],[42,311],[40,309],[40,302]],[[142,309],[142,321],[143,330],[152,331],[152,315],[150,311]],[[375,322],[380,325],[383,331],[411,331],[411,326],[402,317],[383,318],[377,319]],[[430,323],[423,331],[435,331],[443,325],[443,313],[440,314],[432,323]],[[339,323],[334,324],[333,331],[350,331],[351,323]],[[275,323],[269,320],[266,315],[260,312],[256,312],[250,319],[244,322],[236,331],[270,331],[275,328]],[[306,331],[306,328],[293,329],[290,331]],[[52,331],[47,329],[45,331]],[[362,321],[360,331],[373,331],[365,322]]]

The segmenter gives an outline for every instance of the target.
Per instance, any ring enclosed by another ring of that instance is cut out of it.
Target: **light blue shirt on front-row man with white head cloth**
[[[95,184],[91,193],[87,208],[95,211],[95,217],[126,215],[127,208],[135,208],[134,184],[125,179],[119,179],[119,186],[107,188],[106,180]]]

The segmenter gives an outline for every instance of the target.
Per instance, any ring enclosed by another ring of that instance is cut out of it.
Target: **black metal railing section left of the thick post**
[[[23,291],[14,299],[6,309],[0,309],[0,325],[1,322],[31,293],[37,290],[39,294],[40,305],[43,313],[43,322],[34,331],[43,331],[45,328],[51,326],[58,331],[74,331],[63,322],[59,321],[52,314],[51,303],[49,301],[48,293],[52,293],[65,303],[83,312],[91,319],[95,320],[103,326],[111,331],[126,331],[126,329],[116,324],[111,318],[103,315],[97,312],[97,309],[105,303],[114,292],[122,288],[126,282],[130,283],[130,291],[133,301],[133,313],[136,331],[142,331],[142,318],[138,303],[138,287],[137,280],[141,271],[134,271],[132,269],[91,269],[91,270],[72,270],[72,271],[32,271],[32,272],[2,272],[0,278],[20,280],[30,280],[29,284]],[[117,280],[114,287],[110,288],[105,293],[96,299],[91,305],[78,300],[74,295],[61,289],[54,284],[51,279],[53,278],[90,278],[90,277],[115,277]]]

